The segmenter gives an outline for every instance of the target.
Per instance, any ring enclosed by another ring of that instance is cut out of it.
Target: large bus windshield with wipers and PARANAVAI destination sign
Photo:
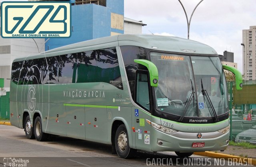
[[[228,111],[224,72],[219,58],[150,53],[158,68],[154,88],[158,112],[180,117],[216,117]]]

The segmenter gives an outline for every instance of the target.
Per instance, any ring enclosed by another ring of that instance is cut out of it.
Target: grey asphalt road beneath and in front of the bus
[[[9,164],[8,164],[9,163]],[[138,151],[132,159],[121,159],[111,153],[110,145],[54,137],[39,142],[27,139],[23,129],[0,125],[0,167],[140,167],[140,166],[236,166],[223,159],[192,155],[180,159],[174,152]],[[240,164],[241,165],[241,164]]]

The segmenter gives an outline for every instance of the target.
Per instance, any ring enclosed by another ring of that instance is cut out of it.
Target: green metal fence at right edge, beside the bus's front
[[[256,143],[256,80],[243,81],[243,89],[236,90],[228,82],[230,108],[230,139]]]

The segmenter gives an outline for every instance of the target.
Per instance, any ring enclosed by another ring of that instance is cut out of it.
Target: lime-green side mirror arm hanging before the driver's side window
[[[158,86],[158,70],[156,68],[156,65],[154,65],[154,63],[148,60],[143,60],[143,59],[136,59],[134,60],[134,62],[141,64],[143,66],[146,66],[146,68],[148,68],[150,85],[153,87],[157,87]]]

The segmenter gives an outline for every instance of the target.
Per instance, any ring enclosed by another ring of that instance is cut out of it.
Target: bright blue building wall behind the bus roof
[[[124,15],[124,0],[107,0],[106,7],[96,4],[74,5],[71,12],[71,37],[51,38],[46,42],[45,50],[110,36],[111,32],[124,34],[123,30],[110,27],[111,13]]]

